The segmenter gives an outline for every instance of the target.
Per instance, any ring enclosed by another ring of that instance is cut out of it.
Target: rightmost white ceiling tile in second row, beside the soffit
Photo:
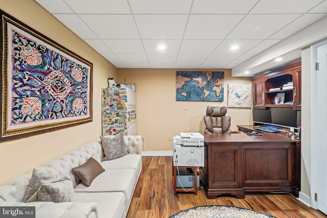
[[[269,39],[285,39],[299,30],[309,26],[311,23],[321,19],[325,15],[326,14],[303,14],[285,28],[270,36]]]

